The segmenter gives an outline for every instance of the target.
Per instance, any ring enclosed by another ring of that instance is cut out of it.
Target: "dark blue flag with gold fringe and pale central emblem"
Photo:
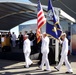
[[[48,13],[46,23],[46,33],[58,39],[61,36],[62,29],[58,23],[57,16],[53,9],[51,0],[48,1]]]

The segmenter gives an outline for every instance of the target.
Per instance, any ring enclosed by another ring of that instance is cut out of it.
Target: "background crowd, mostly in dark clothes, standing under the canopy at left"
[[[10,45],[12,47],[16,47],[16,45],[19,46],[19,49],[23,49],[23,42],[24,42],[24,36],[25,35],[29,35],[29,40],[31,41],[31,49],[36,48],[33,46],[36,46],[36,33],[33,33],[33,31],[31,30],[30,32],[25,31],[24,33],[20,32],[18,37],[16,36],[16,32],[1,32],[0,35],[0,43],[3,39],[3,37],[9,37],[10,39]]]

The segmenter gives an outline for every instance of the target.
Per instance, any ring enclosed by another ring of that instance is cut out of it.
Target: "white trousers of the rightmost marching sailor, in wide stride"
[[[66,65],[66,67],[67,67],[67,69],[68,69],[68,72],[73,72],[73,71],[72,71],[72,68],[71,68],[71,65],[70,65],[69,62],[68,62],[68,57],[67,57],[67,55],[61,56],[60,62],[59,62],[59,64],[58,64],[58,66],[56,66],[56,68],[57,68],[58,70],[60,70],[60,67],[62,66],[63,62],[65,62],[65,65]]]

